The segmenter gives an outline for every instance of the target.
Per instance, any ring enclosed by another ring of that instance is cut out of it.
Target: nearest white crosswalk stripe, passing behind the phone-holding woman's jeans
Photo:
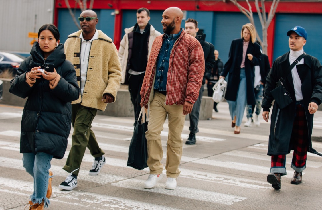
[[[21,195],[21,196],[30,196],[32,194],[33,182],[1,178],[0,179],[0,192]],[[11,190],[6,190],[3,188],[10,187]],[[175,208],[170,208],[164,205],[155,205],[146,202],[138,202],[134,200],[124,199],[115,196],[106,196],[96,193],[89,192],[77,192],[77,191],[65,191],[57,190],[57,187],[52,186],[53,192],[55,193],[54,198],[51,198],[51,202],[60,202],[65,204],[72,204],[75,206],[83,207],[93,207],[93,201],[95,201],[95,209],[111,209],[111,208],[128,208],[128,209],[159,209],[159,210],[172,210]],[[22,193],[19,191],[25,191]],[[27,194],[29,193],[29,194]],[[57,196],[63,195],[63,196]],[[64,201],[68,200],[68,202]]]

